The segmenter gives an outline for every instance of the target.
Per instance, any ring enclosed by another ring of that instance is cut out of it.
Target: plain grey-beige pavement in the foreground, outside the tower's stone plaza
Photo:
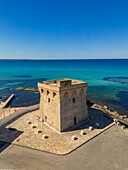
[[[0,169],[128,170],[128,134],[113,126],[74,152],[59,156],[12,145],[0,155]]]

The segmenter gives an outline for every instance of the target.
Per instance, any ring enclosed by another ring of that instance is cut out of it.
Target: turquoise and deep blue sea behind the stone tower
[[[111,60],[0,60],[0,97],[15,93],[11,107],[39,102],[39,94],[17,91],[17,87],[37,87],[37,82],[72,78],[88,82],[87,95],[128,114],[128,59]]]

